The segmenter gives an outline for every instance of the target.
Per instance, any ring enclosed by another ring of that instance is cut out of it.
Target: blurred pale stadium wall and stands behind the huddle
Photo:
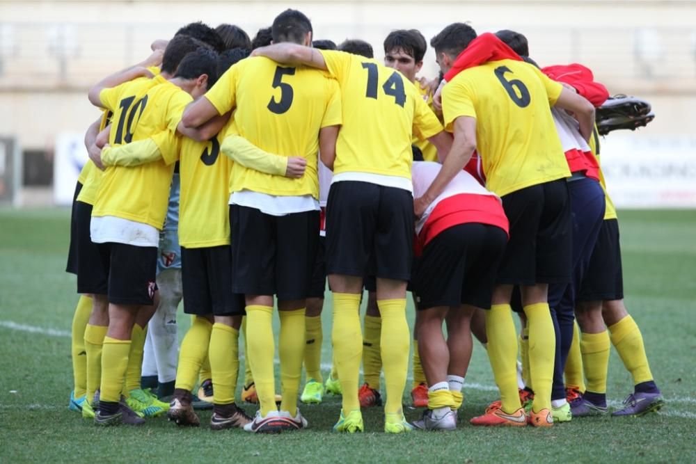
[[[253,38],[285,8],[315,39],[361,38],[383,58],[393,29],[429,41],[451,22],[525,34],[539,65],[582,63],[612,95],[647,99],[656,119],[604,138],[619,207],[696,208],[696,1],[0,1],[0,204],[69,205],[97,116],[88,88],[188,22],[237,24]],[[428,49],[422,76],[436,76]]]

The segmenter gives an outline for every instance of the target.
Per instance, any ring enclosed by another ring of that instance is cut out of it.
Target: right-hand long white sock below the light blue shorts
[[[179,337],[177,336],[176,313],[182,299],[181,269],[166,269],[157,275],[159,287],[159,306],[150,319],[152,348],[157,360],[159,383],[176,380],[176,367],[179,357]]]

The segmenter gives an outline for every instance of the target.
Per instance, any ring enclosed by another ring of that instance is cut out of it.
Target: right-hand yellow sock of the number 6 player
[[[534,385],[532,411],[551,410],[551,386],[556,355],[556,334],[547,303],[524,308],[529,328],[529,369]]]

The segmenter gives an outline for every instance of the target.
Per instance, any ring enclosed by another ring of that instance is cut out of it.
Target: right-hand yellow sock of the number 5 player
[[[280,336],[278,358],[280,358],[280,392],[283,401],[280,410],[294,417],[297,414],[297,392],[302,375],[302,358],[305,351],[305,307],[294,311],[278,311]]]

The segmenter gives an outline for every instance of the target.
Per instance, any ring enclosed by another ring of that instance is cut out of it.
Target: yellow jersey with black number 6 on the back
[[[476,118],[476,150],[486,186],[498,196],[570,177],[551,106],[560,83],[515,60],[490,61],[457,74],[442,93],[445,128]]]

